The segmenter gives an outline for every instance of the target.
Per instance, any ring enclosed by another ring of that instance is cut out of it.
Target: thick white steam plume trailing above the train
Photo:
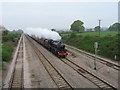
[[[61,40],[59,33],[47,28],[26,28],[25,33],[45,39]]]

